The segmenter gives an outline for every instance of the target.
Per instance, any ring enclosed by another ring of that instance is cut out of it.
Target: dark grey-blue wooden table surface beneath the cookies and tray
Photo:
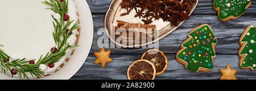
[[[102,35],[97,35],[99,28],[104,28],[106,11],[112,0],[86,0],[92,11],[94,23],[94,37],[90,53],[81,69],[71,79],[127,79],[127,68],[133,61],[140,59],[144,51],[149,48],[127,49],[127,48],[106,48],[111,50],[110,57],[113,63],[107,63],[105,68],[100,64],[94,64],[96,57],[93,53],[100,51],[97,40]],[[253,1],[246,13],[236,20],[221,22],[217,18],[216,11],[212,7],[213,0],[200,0],[191,18],[184,22],[172,34],[159,41],[159,49],[168,57],[167,70],[155,79],[215,79],[221,76],[219,69],[225,69],[230,65],[232,69],[237,69],[237,79],[256,79],[256,71],[241,69],[238,66],[240,57],[238,43],[242,32],[247,26],[256,26],[256,2]],[[216,46],[216,58],[213,60],[213,69],[210,72],[192,72],[184,68],[183,64],[176,61],[176,52],[180,49],[180,44],[187,39],[188,32],[201,24],[209,24],[218,39]],[[256,55],[255,55],[256,56]]]

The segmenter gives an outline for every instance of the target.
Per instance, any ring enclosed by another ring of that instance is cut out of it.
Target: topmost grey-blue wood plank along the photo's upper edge
[[[90,7],[90,10],[92,11],[92,14],[105,14],[106,11],[109,9],[109,5],[112,2],[112,0],[86,0],[88,2],[88,5]],[[216,11],[213,10],[212,7],[213,0],[199,0],[199,4],[197,5],[195,11],[193,14],[195,15],[216,15]],[[249,9],[247,9],[245,15],[254,16],[256,2],[251,3],[251,6]]]

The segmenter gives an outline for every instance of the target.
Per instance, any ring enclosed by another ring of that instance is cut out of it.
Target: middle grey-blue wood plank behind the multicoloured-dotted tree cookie
[[[100,28],[104,29],[104,18],[103,14],[94,14],[94,38],[92,49],[90,53],[99,51],[98,39],[102,36],[98,35],[97,32]],[[201,24],[209,24],[213,28],[213,32],[218,40],[216,46],[217,54],[233,54],[237,55],[240,44],[238,40],[247,26],[250,24],[256,25],[256,15],[241,16],[236,20],[229,20],[228,22],[221,22],[218,20],[216,15],[191,15],[191,18],[183,23],[177,30],[172,34],[166,36],[159,41],[159,49],[164,53],[175,54],[180,49],[180,44],[187,39],[188,32],[193,28],[200,26]],[[109,40],[110,41],[110,40]],[[123,48],[109,48],[112,53],[142,53],[148,48],[139,49],[123,49]]]

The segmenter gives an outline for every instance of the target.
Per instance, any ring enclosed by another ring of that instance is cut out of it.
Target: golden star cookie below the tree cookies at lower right
[[[220,80],[237,80],[236,76],[237,70],[231,69],[229,65],[226,65],[226,69],[220,69],[222,76]]]

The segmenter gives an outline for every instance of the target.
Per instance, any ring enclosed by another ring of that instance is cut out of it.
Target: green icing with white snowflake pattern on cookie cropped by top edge
[[[240,16],[245,13],[245,7],[251,0],[214,0],[214,9],[220,7],[219,17],[221,19],[228,18],[229,16]]]

